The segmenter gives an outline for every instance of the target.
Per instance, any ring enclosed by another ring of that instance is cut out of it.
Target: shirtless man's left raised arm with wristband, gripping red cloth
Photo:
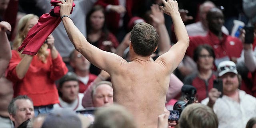
[[[58,1],[62,2],[62,4],[57,4],[60,6],[62,22],[70,41],[78,52],[80,52],[92,64],[108,73],[117,66],[120,66],[121,63],[126,62],[122,57],[114,53],[100,50],[86,40],[84,35],[78,30],[78,28],[76,28],[72,20],[68,17],[72,9],[73,0],[66,0],[66,2],[64,0]]]

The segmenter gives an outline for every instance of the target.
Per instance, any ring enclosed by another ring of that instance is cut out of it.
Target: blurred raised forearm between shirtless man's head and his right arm
[[[164,54],[170,49],[170,36],[167,32],[165,24],[159,24],[157,27],[157,32],[159,35],[159,55]]]

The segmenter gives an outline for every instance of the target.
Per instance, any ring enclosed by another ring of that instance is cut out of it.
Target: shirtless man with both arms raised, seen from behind
[[[156,128],[158,115],[164,113],[170,74],[180,64],[189,45],[178,3],[162,0],[165,7],[160,6],[164,13],[171,16],[178,42],[155,61],[150,61],[150,55],[158,45],[158,34],[147,23],[136,24],[131,32],[129,45],[131,61],[126,62],[114,53],[91,45],[72,20],[64,16],[70,14],[73,0],[59,1],[62,2],[58,4],[62,22],[76,50],[92,64],[110,74],[114,102],[132,112],[138,128]]]

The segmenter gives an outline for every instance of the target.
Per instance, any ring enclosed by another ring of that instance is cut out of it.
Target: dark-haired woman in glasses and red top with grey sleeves
[[[197,64],[198,72],[186,76],[183,83],[196,87],[198,102],[208,97],[208,92],[213,88],[213,81],[217,78],[213,69],[214,50],[208,44],[199,45],[194,50],[193,59]]]

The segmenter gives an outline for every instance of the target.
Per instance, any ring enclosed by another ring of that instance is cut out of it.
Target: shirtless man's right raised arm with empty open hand
[[[185,25],[180,17],[177,1],[167,0],[166,2],[165,0],[162,0],[162,2],[165,7],[160,6],[160,8],[164,13],[171,16],[178,42],[174,44],[168,52],[158,57],[155,62],[163,62],[164,65],[166,65],[167,70],[171,73],[182,61],[189,46],[189,38]]]

